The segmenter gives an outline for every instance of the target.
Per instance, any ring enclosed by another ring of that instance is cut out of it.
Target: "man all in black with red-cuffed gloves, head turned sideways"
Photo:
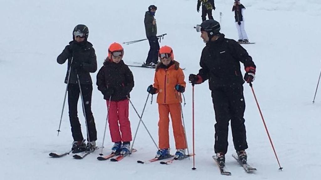
[[[219,163],[224,165],[230,120],[234,148],[240,160],[247,160],[243,84],[244,80],[247,83],[254,80],[256,66],[247,51],[235,40],[225,38],[225,35],[219,32],[220,29],[220,24],[215,20],[206,20],[196,26],[206,46],[200,60],[201,69],[197,75],[189,75],[189,82],[201,84],[208,80],[216,120],[214,151]],[[244,80],[240,62],[244,64],[246,71]]]

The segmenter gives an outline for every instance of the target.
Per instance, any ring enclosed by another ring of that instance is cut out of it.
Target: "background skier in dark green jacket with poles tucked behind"
[[[146,37],[148,38],[149,42],[149,52],[146,59],[146,66],[152,66],[155,67],[158,63],[158,51],[160,49],[160,45],[158,43],[157,35],[157,25],[156,25],[156,19],[154,18],[155,12],[157,10],[157,7],[155,5],[150,5],[148,7],[148,11],[145,13],[145,31],[146,31]]]

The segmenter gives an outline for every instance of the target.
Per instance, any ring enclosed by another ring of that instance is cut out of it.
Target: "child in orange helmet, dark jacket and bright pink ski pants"
[[[128,98],[134,87],[134,77],[123,57],[124,49],[120,44],[109,46],[108,57],[97,74],[97,86],[107,103],[109,131],[115,143],[112,153],[127,155],[131,152],[132,141]]]

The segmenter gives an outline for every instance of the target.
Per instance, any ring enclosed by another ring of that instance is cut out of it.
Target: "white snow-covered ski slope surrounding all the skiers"
[[[71,148],[72,136],[67,103],[61,133],[57,136],[62,102],[65,93],[66,64],[56,57],[72,39],[77,24],[89,27],[88,40],[94,45],[98,68],[107,56],[108,46],[145,38],[143,18],[147,7],[158,7],[155,18],[158,34],[167,33],[160,45],[173,48],[175,59],[190,73],[199,70],[204,47],[200,33],[193,26],[201,23],[196,12],[196,0],[139,0],[139,1],[65,1],[65,0],[1,0],[0,41],[0,174],[1,179],[64,180],[64,179],[319,179],[321,169],[321,92],[312,104],[320,64],[319,0],[242,0],[245,29],[255,45],[243,45],[256,63],[253,83],[263,116],[278,154],[277,161],[265,132],[251,88],[244,84],[246,127],[249,148],[248,162],[258,170],[247,174],[232,158],[232,137],[226,166],[232,176],[221,176],[212,159],[214,141],[214,110],[210,90],[205,82],[195,85],[195,167],[193,161],[183,160],[171,165],[137,164],[137,160],[154,157],[157,149],[146,130],[138,130],[134,148],[138,151],[120,162],[98,161],[100,150],[83,160],[71,155],[52,159],[50,152]],[[214,19],[223,13],[221,32],[237,39],[233,1],[216,0]],[[127,64],[143,62],[149,45],[143,41],[124,45]],[[242,66],[243,67],[243,66]],[[131,101],[139,114],[147,97],[146,88],[153,82],[152,69],[130,68],[135,87]],[[97,73],[97,72],[96,72]],[[101,146],[106,122],[106,103],[97,90],[96,73],[93,79],[92,111]],[[192,153],[192,87],[185,92],[183,108],[189,151]],[[148,100],[143,121],[158,142],[158,109]],[[84,118],[79,101],[78,112],[84,136]],[[132,133],[139,118],[130,107]],[[171,153],[175,152],[170,128]],[[109,129],[104,154],[111,143]]]

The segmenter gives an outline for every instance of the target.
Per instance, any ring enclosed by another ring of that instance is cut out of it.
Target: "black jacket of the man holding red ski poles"
[[[209,80],[210,90],[215,87],[227,87],[244,84],[240,62],[244,67],[256,68],[252,57],[233,39],[225,38],[219,34],[216,41],[206,43],[202,51],[198,72],[203,79]]]

